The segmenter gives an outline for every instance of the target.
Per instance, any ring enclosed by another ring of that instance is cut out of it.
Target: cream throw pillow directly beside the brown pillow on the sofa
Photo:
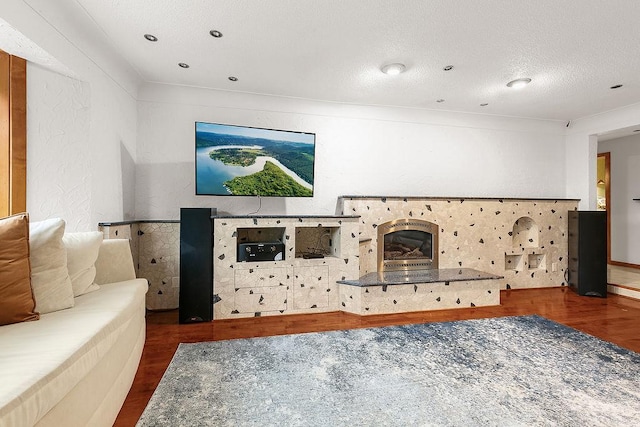
[[[64,226],[60,218],[29,224],[31,287],[40,314],[73,307],[67,251],[62,244]]]

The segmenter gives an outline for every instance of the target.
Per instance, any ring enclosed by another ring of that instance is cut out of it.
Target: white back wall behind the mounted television
[[[252,197],[195,196],[194,122],[316,133],[315,195],[262,214],[333,214],[339,195],[564,198],[564,123],[313,102],[146,84],[139,90],[136,214],[247,214]]]

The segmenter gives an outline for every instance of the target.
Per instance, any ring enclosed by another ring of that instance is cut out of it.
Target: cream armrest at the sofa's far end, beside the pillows
[[[98,285],[123,282],[136,278],[131,247],[127,239],[105,239],[100,245],[96,260],[96,279]]]

